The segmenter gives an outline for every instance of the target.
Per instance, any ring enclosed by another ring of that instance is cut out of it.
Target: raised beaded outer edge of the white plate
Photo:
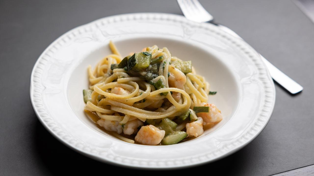
[[[47,129],[48,132],[50,132],[52,134],[52,136],[54,136],[55,138],[57,138],[60,142],[62,142],[63,144],[65,144],[66,146],[68,146],[69,148],[73,149],[74,151],[77,151],[78,153],[82,153],[83,155],[85,156],[88,156],[90,158],[93,158],[95,160],[98,160],[98,161],[101,161],[101,162],[105,162],[105,163],[109,163],[109,164],[113,164],[113,165],[118,165],[118,166],[123,166],[123,167],[128,167],[128,168],[144,168],[144,169],[173,169],[173,168],[186,168],[186,167],[193,167],[193,166],[197,166],[197,165],[202,165],[202,164],[205,164],[205,163],[211,163],[211,162],[214,162],[216,160],[219,160],[221,158],[224,158],[226,156],[229,156],[231,155],[232,153],[235,153],[236,151],[240,150],[241,148],[245,147],[248,143],[252,142],[252,140],[254,140],[262,131],[263,129],[266,127],[266,125],[268,124],[272,114],[273,114],[273,110],[274,110],[274,106],[275,106],[275,99],[276,99],[276,90],[275,90],[275,86],[274,86],[274,82],[273,80],[271,79],[270,77],[270,73],[266,67],[266,65],[264,64],[264,62],[262,62],[261,58],[259,58],[258,60],[261,61],[261,65],[263,65],[263,69],[266,71],[266,77],[270,78],[270,87],[272,88],[272,90],[270,91],[270,93],[273,93],[273,97],[272,97],[272,100],[271,100],[271,103],[272,103],[272,106],[270,108],[268,108],[269,110],[269,113],[267,115],[267,120],[265,122],[263,122],[263,126],[260,128],[260,130],[253,136],[253,137],[250,137],[249,140],[247,140],[246,142],[244,143],[241,143],[240,146],[237,146],[235,148],[233,148],[232,150],[230,150],[229,152],[227,153],[224,153],[222,155],[220,155],[219,157],[216,157],[212,160],[208,160],[208,161],[204,161],[204,162],[199,162],[199,163],[192,163],[192,164],[181,164],[179,166],[171,166],[171,167],[152,167],[152,166],[148,166],[148,165],[145,165],[145,166],[141,166],[141,165],[131,165],[131,164],[127,164],[127,163],[118,163],[118,162],[114,162],[114,161],[111,161],[111,160],[108,160],[108,159],[105,159],[105,158],[101,158],[99,156],[95,156],[95,155],[92,155],[91,153],[87,153],[86,151],[82,150],[82,149],[79,149],[79,148],[76,148],[74,147],[73,145],[70,145],[69,142],[66,142],[64,139],[62,139],[62,137],[58,136],[55,132],[53,132],[53,130],[51,129],[51,127],[48,127],[47,124],[44,122],[44,120],[42,119],[41,116],[43,116],[43,113],[41,113],[39,111],[40,108],[36,107],[35,103],[36,103],[36,97],[34,96],[34,91],[35,91],[35,87],[33,85],[34,82],[40,82],[40,80],[37,80],[37,77],[36,77],[36,69],[38,68],[38,65],[39,63],[41,62],[42,60],[42,56],[58,41],[60,40],[62,37],[68,35],[68,34],[71,34],[73,31],[76,31],[78,30],[79,28],[82,28],[84,26],[89,26],[89,25],[92,25],[94,23],[97,23],[101,20],[109,20],[109,19],[112,19],[113,21],[115,21],[116,18],[121,18],[121,17],[127,17],[127,16],[146,16],[147,17],[154,17],[156,18],[156,16],[159,17],[160,20],[169,20],[169,17],[173,20],[173,19],[176,19],[176,20],[182,20],[182,21],[185,21],[185,22],[188,22],[188,23],[196,23],[196,22],[192,22],[188,19],[186,19],[184,16],[182,15],[177,15],[177,14],[171,14],[171,13],[125,13],[125,14],[118,14],[118,15],[113,15],[113,16],[108,16],[108,17],[104,17],[104,18],[100,18],[100,19],[96,19],[92,22],[89,22],[89,23],[86,23],[86,24],[83,24],[83,25],[80,25],[78,27],[75,27],[71,30],[69,30],[68,32],[62,34],[60,37],[58,37],[57,39],[55,39],[51,44],[49,44],[47,46],[47,48],[41,53],[41,55],[39,56],[39,58],[37,59],[37,61],[35,62],[35,65],[32,69],[32,72],[31,72],[31,77],[30,77],[30,101],[31,101],[31,104],[32,104],[32,107],[35,111],[35,114],[37,116],[37,118],[39,119],[39,121],[41,122],[41,124]],[[203,26],[206,27],[206,25],[210,25],[209,23],[203,23],[202,24]],[[225,33],[224,31],[222,31],[221,29],[218,29],[222,35],[224,37],[228,37],[229,39],[235,39],[233,36],[231,36],[230,34],[228,33]],[[247,44],[245,41],[242,41],[244,44],[246,44],[247,47],[249,47],[252,51],[256,52],[255,49],[253,49],[249,44]],[[256,52],[257,53],[257,52]],[[261,66],[260,65],[260,66]],[[263,83],[264,84],[264,83]],[[262,91],[261,91],[262,92]],[[42,92],[41,92],[42,93]],[[264,96],[267,95],[267,92],[263,91],[264,93]],[[260,109],[263,109],[264,108],[264,105],[260,108]],[[49,116],[49,114],[46,114],[45,116]]]

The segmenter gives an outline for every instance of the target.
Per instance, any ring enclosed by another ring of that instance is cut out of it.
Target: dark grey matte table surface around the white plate
[[[255,140],[226,158],[190,169],[271,175],[314,164],[314,24],[288,0],[200,2],[216,22],[237,32],[304,91],[291,96],[276,85],[273,116]],[[29,87],[35,61],[57,37],[98,18],[135,12],[182,14],[174,0],[0,1],[0,175],[106,174],[107,168],[126,173],[55,139],[38,121]]]

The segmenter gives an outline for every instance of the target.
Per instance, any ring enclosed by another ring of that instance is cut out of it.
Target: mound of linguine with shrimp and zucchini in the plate
[[[209,83],[191,61],[172,56],[167,48],[144,48],[122,58],[113,54],[88,67],[89,89],[84,110],[115,137],[144,145],[176,144],[199,137],[222,120],[208,104]]]

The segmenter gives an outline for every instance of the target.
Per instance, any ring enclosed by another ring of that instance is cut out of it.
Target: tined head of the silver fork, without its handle
[[[213,20],[213,16],[203,8],[198,0],[177,0],[177,2],[187,19],[198,23]]]

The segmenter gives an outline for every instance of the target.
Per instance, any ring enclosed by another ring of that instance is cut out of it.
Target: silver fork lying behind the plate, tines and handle
[[[198,2],[198,0],[177,0],[182,13],[184,16],[191,20],[198,23],[203,22],[209,22],[213,23],[213,16],[209,14],[203,6]],[[216,24],[220,29],[224,30],[225,32],[242,39],[238,34],[236,34],[233,30],[230,28],[227,28],[221,24]],[[268,60],[266,60],[261,54],[260,54],[262,60],[264,61],[265,65],[267,66],[270,75],[272,76],[273,80],[275,80],[279,85],[284,87],[287,91],[289,91],[291,94],[296,94],[303,90],[303,87],[292,80],[289,76],[285,75],[283,72],[281,72],[278,68],[276,68],[273,64],[271,64]]]

